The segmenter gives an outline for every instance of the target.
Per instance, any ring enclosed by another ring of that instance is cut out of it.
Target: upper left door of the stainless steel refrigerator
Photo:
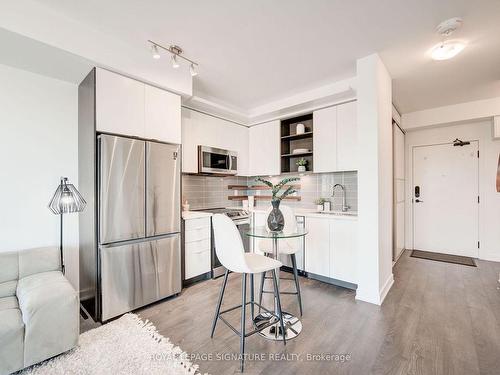
[[[99,136],[99,243],[145,236],[145,142]]]

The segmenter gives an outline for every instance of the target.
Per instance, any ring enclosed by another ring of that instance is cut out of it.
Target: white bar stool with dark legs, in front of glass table
[[[236,333],[240,337],[240,369],[243,372],[244,368],[244,354],[245,354],[245,338],[251,336],[257,332],[262,331],[263,329],[273,325],[276,323],[276,320],[271,319],[268,324],[265,324],[258,329],[255,329],[251,332],[245,332],[245,313],[246,306],[250,305],[252,320],[254,318],[254,305],[257,305],[266,312],[272,314],[276,319],[279,320],[281,329],[285,332],[285,326],[283,323],[283,316],[281,314],[281,302],[279,298],[279,290],[278,290],[278,281],[276,278],[276,270],[279,270],[282,263],[278,260],[266,257],[261,254],[255,253],[245,253],[245,249],[243,248],[243,242],[241,240],[240,233],[236,228],[234,222],[227,217],[226,215],[216,214],[212,216],[212,225],[214,230],[214,239],[215,239],[215,251],[217,253],[217,257],[221,264],[226,267],[226,273],[224,274],[224,281],[222,282],[221,291],[219,294],[219,300],[217,302],[217,308],[215,310],[214,321],[212,324],[212,333],[210,335],[213,338],[215,333],[215,327],[217,325],[217,321],[222,320],[231,330]],[[254,293],[253,293],[253,275],[256,273],[269,272],[272,273],[272,279],[274,284],[274,295],[278,304],[279,314],[275,314],[273,311],[266,309],[261,306],[259,303],[254,301]],[[226,309],[224,311],[220,311],[222,305],[222,299],[224,297],[224,291],[226,289],[227,279],[229,272],[241,273],[242,274],[242,283],[241,283],[241,305],[237,305]],[[246,301],[246,292],[247,292],[247,275],[250,275],[250,302]],[[238,331],[234,328],[224,317],[222,314],[225,314],[229,311],[236,310],[241,308],[241,328]],[[283,335],[283,344],[286,344],[285,335]]]

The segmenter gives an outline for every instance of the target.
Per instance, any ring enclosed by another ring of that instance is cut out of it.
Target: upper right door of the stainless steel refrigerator
[[[180,146],[146,142],[146,234],[181,230]]]

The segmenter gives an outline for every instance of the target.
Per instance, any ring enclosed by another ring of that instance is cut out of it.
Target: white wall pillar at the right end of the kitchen
[[[392,276],[392,91],[379,56],[357,61],[358,289],[381,304]]]

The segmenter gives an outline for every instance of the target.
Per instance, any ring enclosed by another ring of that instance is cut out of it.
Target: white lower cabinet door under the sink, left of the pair
[[[330,277],[330,220],[306,217],[305,270]]]

